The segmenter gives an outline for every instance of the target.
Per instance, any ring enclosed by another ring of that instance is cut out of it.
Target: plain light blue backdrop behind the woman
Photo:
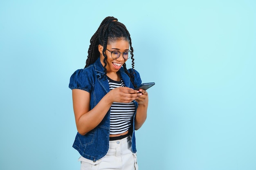
[[[254,0],[1,0],[0,169],[79,169],[69,78],[106,16],[156,83],[140,170],[255,170]]]

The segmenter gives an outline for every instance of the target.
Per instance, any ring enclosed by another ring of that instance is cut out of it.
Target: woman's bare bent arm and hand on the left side
[[[113,102],[129,103],[137,99],[141,93],[137,93],[128,87],[119,87],[107,93],[100,102],[90,110],[90,93],[80,89],[72,90],[73,108],[76,120],[76,128],[81,135],[98,126]]]

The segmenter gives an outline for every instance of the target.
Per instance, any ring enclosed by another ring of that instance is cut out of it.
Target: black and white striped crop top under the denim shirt
[[[108,77],[110,91],[117,87],[124,87],[124,81],[120,82],[112,80]],[[110,107],[110,134],[121,134],[126,132],[130,126],[132,118],[135,114],[135,104],[113,102]]]

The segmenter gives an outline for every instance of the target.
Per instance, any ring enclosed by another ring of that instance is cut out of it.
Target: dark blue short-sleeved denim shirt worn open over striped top
[[[128,70],[129,72],[132,69]],[[139,86],[141,84],[141,79],[139,73],[134,70],[134,83]],[[130,81],[130,77],[124,72],[124,68],[121,67],[119,73],[124,80],[124,84],[126,87],[130,87],[134,89],[132,82]],[[84,91],[88,91],[91,94],[90,100],[90,108],[94,108],[99,101],[104,97],[109,91],[109,85],[107,77],[104,75],[104,68],[98,58],[96,62],[91,64],[90,66],[79,69],[75,71],[70,77],[70,89],[81,89]],[[136,106],[136,111],[138,107],[138,103],[133,101]],[[135,115],[136,115],[135,111]],[[132,119],[132,152],[137,152],[135,145],[135,128],[134,121],[135,115]],[[85,122],[86,123],[86,122]],[[105,115],[101,123],[86,133],[85,135],[80,135],[78,132],[76,134],[76,138],[73,144],[73,148],[78,150],[81,156],[97,161],[104,157],[109,148],[109,134],[110,134],[110,109],[108,113]]]

